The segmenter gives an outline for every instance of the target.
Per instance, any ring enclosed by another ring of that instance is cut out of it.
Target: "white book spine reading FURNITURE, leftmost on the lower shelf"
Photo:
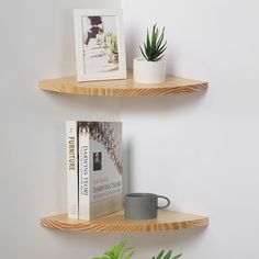
[[[78,218],[77,123],[66,122],[68,217]]]

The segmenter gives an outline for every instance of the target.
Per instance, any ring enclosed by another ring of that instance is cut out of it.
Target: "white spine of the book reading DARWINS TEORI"
[[[87,127],[78,125],[79,153],[79,218],[90,219],[90,136]]]

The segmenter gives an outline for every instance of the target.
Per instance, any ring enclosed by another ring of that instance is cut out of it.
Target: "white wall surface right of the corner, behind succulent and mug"
[[[130,66],[157,22],[168,74],[210,82],[205,95],[123,101],[132,190],[211,217],[206,229],[134,236],[133,245],[142,258],[162,245],[184,259],[258,258],[258,1],[123,0],[123,9]]]

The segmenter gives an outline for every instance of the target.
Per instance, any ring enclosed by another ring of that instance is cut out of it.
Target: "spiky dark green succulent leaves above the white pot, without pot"
[[[142,55],[148,61],[158,61],[165,56],[165,50],[167,49],[167,41],[165,38],[165,27],[162,29],[161,34],[159,35],[159,30],[157,24],[153,26],[151,34],[147,29],[147,38],[144,42],[144,48],[139,46]]]

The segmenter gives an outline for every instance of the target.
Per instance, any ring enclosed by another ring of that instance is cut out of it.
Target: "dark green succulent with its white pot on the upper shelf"
[[[134,81],[140,83],[160,83],[166,80],[165,50],[165,27],[161,33],[157,24],[153,26],[151,33],[147,29],[146,42],[144,47],[139,46],[143,57],[134,59]]]

